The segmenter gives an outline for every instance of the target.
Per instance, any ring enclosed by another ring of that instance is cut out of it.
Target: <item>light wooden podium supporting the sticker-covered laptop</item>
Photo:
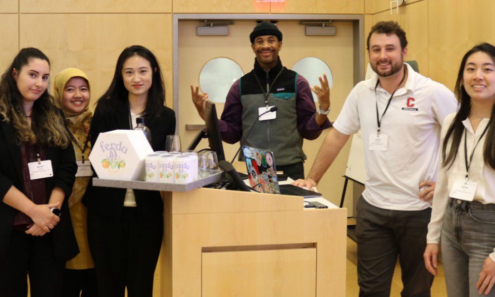
[[[346,209],[215,189],[162,196],[161,296],[345,296]]]

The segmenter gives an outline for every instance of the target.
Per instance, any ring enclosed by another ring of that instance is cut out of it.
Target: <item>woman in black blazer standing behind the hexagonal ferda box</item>
[[[165,91],[155,56],[142,46],[120,54],[110,87],[98,100],[91,123],[93,147],[99,133],[133,129],[145,118],[153,150],[164,150],[175,133],[175,112],[165,107]],[[99,296],[152,296],[153,275],[163,237],[163,202],[157,191],[93,187],[88,238]]]

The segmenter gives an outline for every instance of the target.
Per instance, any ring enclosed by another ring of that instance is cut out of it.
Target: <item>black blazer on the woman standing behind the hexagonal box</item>
[[[165,150],[167,135],[175,134],[175,112],[163,106],[158,118],[147,118],[145,125],[151,131],[151,147],[154,151]],[[102,132],[117,129],[131,129],[129,125],[129,106],[119,102],[115,109],[103,114],[101,108],[96,107],[91,120],[91,145],[95,147],[98,135]],[[86,191],[83,203],[89,211],[95,211],[99,215],[114,217],[120,215],[124,206],[126,189],[91,187]],[[145,215],[161,216],[163,214],[163,201],[158,191],[134,190],[137,211]]]

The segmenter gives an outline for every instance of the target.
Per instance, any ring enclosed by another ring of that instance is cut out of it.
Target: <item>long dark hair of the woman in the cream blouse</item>
[[[466,54],[462,57],[461,66],[459,67],[459,73],[457,74],[457,81],[455,82],[455,97],[460,103],[460,108],[452,121],[450,127],[448,127],[444,145],[442,149],[442,156],[444,162],[442,166],[452,166],[455,160],[457,151],[459,150],[459,145],[461,143],[462,134],[464,132],[464,125],[462,121],[469,116],[469,111],[471,109],[471,97],[467,94],[464,85],[462,84],[462,77],[464,74],[464,67],[466,66],[466,61],[470,55],[475,52],[482,51],[492,57],[495,63],[495,47],[489,43],[481,43],[474,46],[474,48],[468,50]],[[487,165],[495,169],[495,109],[492,108],[492,116],[488,122],[488,131],[486,134],[485,148],[483,151],[483,160]],[[448,143],[450,142],[450,148],[448,148]],[[447,152],[448,148],[448,152]]]

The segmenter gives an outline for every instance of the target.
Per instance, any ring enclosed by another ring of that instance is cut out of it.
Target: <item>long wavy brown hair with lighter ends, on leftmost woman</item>
[[[14,61],[3,73],[0,80],[0,115],[2,121],[12,124],[17,136],[17,143],[38,143],[50,147],[65,148],[69,144],[69,135],[65,129],[61,111],[53,104],[53,97],[48,89],[33,104],[31,127],[24,113],[22,96],[17,88],[13,70],[22,71],[31,59],[50,61],[39,49],[21,49]]]

